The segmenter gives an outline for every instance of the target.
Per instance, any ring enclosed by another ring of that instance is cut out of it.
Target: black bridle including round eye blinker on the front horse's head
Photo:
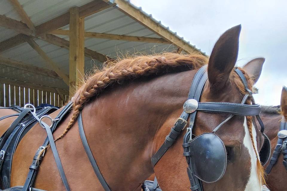
[[[259,118],[261,107],[259,104],[245,104],[248,97],[252,97],[252,91],[248,89],[247,81],[243,73],[239,69],[235,69],[236,73],[241,78],[245,89],[248,92],[241,104],[224,103],[224,102],[199,102],[200,96],[204,89],[204,84],[207,81],[207,65],[201,67],[193,78],[188,99],[184,103],[184,111],[171,128],[164,143],[152,157],[151,162],[153,167],[157,164],[164,153],[175,142],[176,138],[181,134],[184,127],[187,125],[189,117],[189,127],[183,140],[183,155],[187,160],[187,174],[190,180],[190,189],[193,191],[202,191],[201,181],[211,183],[220,180],[226,169],[227,154],[223,141],[215,134],[234,115],[242,116],[257,116],[261,125],[261,132],[264,131],[264,126]],[[196,119],[197,111],[205,113],[224,113],[230,114],[222,123],[214,128],[212,133],[203,133],[195,138],[192,137],[192,131]]]

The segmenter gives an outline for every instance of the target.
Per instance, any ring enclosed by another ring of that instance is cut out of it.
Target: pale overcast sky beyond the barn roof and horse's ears
[[[131,0],[162,24],[210,55],[219,36],[242,24],[237,65],[265,57],[255,86],[257,103],[279,105],[287,86],[287,1]]]

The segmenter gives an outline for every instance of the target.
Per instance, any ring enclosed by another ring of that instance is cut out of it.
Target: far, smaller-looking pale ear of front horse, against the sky
[[[250,76],[254,81],[254,84],[257,82],[261,75],[264,62],[265,58],[255,58],[243,66],[248,76]]]

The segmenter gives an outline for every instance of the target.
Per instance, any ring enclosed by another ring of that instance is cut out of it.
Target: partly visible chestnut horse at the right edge
[[[273,152],[277,144],[277,133],[282,119],[282,115],[287,120],[287,89],[283,87],[281,94],[281,113],[279,113],[280,107],[262,107],[261,119],[265,126],[266,135],[271,141],[271,151]],[[282,115],[281,115],[282,114]],[[271,153],[272,154],[272,153]],[[267,185],[271,191],[286,191],[287,172],[282,164],[283,156],[280,153],[277,162],[271,169],[271,172],[267,175]],[[269,162],[268,162],[269,163]],[[268,163],[265,165],[267,167]]]

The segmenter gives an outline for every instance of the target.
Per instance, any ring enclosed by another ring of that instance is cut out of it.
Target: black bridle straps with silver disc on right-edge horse
[[[287,121],[284,116],[282,117],[280,130],[277,134],[278,141],[277,145],[273,151],[273,155],[270,158],[270,162],[265,170],[267,174],[270,174],[272,167],[276,164],[280,153],[283,154],[283,166],[287,171]]]

